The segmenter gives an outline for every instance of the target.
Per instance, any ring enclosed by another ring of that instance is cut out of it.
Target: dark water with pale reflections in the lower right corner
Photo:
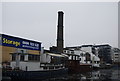
[[[119,69],[100,69],[82,74],[69,74],[64,77],[44,81],[120,81]]]

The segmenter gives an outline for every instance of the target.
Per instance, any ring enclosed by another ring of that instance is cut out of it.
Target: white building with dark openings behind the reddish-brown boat
[[[82,64],[92,64],[93,67],[99,67],[100,58],[98,54],[92,53],[92,46],[79,46],[79,47],[67,47],[63,51],[65,54],[75,54],[79,55],[80,63]],[[96,52],[97,53],[97,52]],[[71,59],[71,57],[69,57]]]

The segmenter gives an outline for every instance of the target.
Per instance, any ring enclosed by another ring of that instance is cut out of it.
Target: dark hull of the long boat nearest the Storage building
[[[68,69],[46,70],[46,71],[6,71],[3,76],[10,77],[12,80],[44,80],[48,78],[64,76]]]

